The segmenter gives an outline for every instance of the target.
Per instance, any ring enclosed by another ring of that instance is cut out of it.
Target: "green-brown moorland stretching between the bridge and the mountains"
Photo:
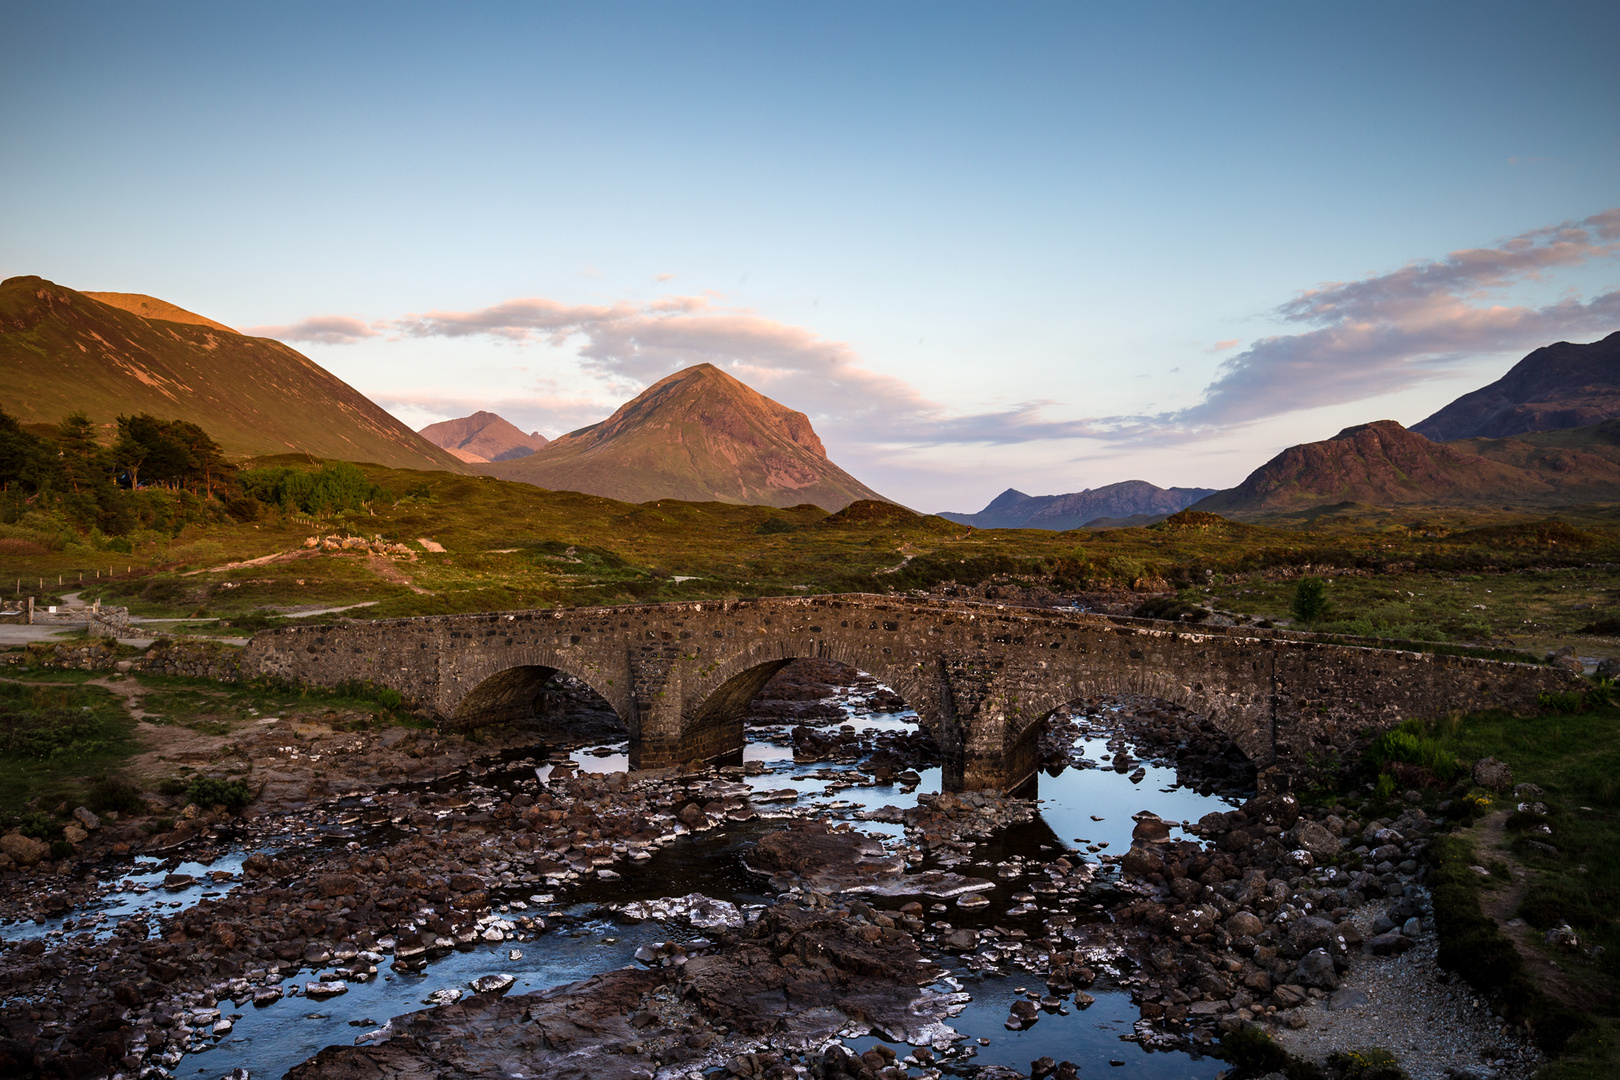
[[[235,627],[196,627],[235,635],[274,625],[266,609],[295,606],[368,604],[364,614],[381,617],[904,594],[951,583],[1059,594],[1176,589],[1194,619],[1191,606],[1286,622],[1296,580],[1315,575],[1328,609],[1312,630],[1531,651],[1576,644],[1599,656],[1620,646],[1604,623],[1620,607],[1615,507],[1555,517],[1335,507],[1278,523],[1192,512],[1145,528],[1053,533],[974,529],[870,502],[834,515],[810,505],[637,505],[373,465],[355,471],[363,491],[322,504],[314,481],[287,483],[322,473],[308,458],[249,465],[219,510],[175,513],[125,538],[79,531],[60,512],[11,513],[0,523],[10,578],[0,596],[83,589],[143,615],[235,619]],[[308,551],[311,536],[381,539],[408,554]]]

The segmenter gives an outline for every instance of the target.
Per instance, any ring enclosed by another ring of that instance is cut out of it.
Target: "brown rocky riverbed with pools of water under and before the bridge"
[[[1239,1025],[1403,1056],[1466,996],[1421,810],[1257,797],[1155,701],[1053,717],[1038,801],[940,793],[901,708],[795,664],[724,769],[604,771],[578,688],[476,745],[301,719],[191,746],[259,800],[5,848],[0,1075],[1213,1077]],[[1468,1012],[1445,1067],[1533,1064]]]

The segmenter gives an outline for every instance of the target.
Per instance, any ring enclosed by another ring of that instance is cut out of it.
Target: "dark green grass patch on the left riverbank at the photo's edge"
[[[133,750],[134,721],[117,695],[0,680],[0,827],[78,805],[92,782],[86,774],[118,767]]]

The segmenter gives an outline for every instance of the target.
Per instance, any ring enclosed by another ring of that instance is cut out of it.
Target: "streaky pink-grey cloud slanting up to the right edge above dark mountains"
[[[1539,308],[1492,303],[1492,295],[1617,254],[1620,209],[1612,209],[1494,248],[1306,290],[1275,314],[1312,329],[1254,342],[1221,363],[1204,402],[1158,419],[1191,427],[1247,423],[1403,390],[1450,374],[1469,356],[1607,334],[1620,327],[1620,290]]]

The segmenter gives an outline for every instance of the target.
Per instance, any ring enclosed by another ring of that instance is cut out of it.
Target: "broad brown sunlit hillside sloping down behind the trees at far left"
[[[99,298],[97,298],[99,296]],[[301,452],[392,468],[468,468],[280,342],[139,293],[0,282],[0,406],[24,423],[84,411],[186,419],[230,457]]]

